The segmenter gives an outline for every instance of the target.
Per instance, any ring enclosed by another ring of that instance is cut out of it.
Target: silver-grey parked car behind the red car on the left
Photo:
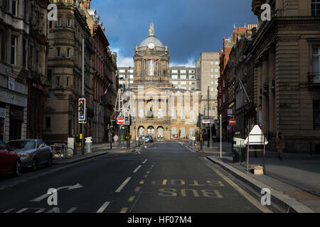
[[[41,140],[11,140],[7,145],[18,153],[22,167],[37,170],[38,165],[52,165],[52,150]]]

